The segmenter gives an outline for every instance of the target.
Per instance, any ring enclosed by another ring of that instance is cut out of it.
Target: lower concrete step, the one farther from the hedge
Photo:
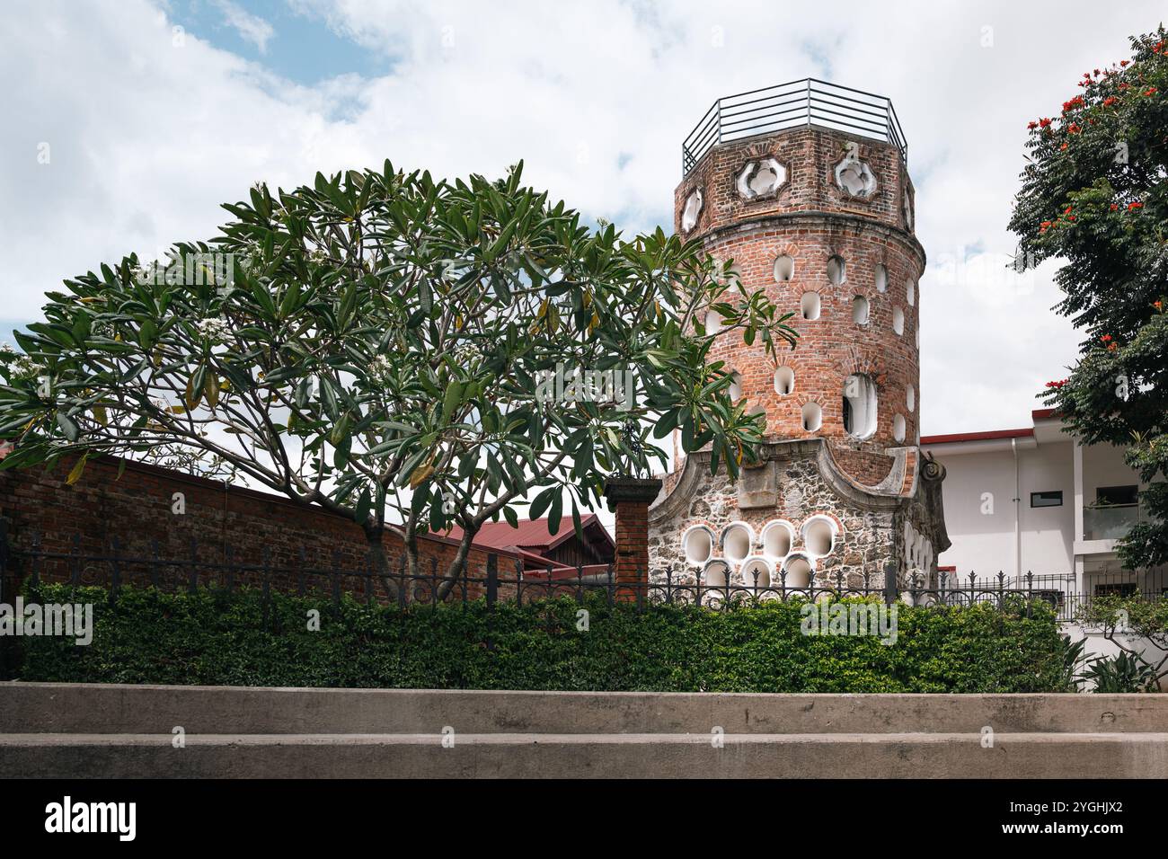
[[[0,735],[42,777],[1163,778],[1168,734]]]

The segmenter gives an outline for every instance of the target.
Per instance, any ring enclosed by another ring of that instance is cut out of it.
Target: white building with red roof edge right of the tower
[[[1118,650],[1097,630],[1070,623],[1083,600],[1108,593],[1168,594],[1168,568],[1132,570],[1115,541],[1146,515],[1142,484],[1124,450],[1083,446],[1063,432],[1051,409],[1031,414],[1026,429],[923,436],[920,446],[946,470],[941,492],[952,546],[939,569],[968,586],[1033,587],[1059,607],[1064,629],[1087,638],[1089,656]],[[1141,647],[1160,658],[1154,647]]]

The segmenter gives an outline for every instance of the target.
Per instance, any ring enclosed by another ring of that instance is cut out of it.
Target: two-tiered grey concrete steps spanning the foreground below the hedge
[[[1166,727],[1164,695],[0,685],[41,777],[1163,778]]]

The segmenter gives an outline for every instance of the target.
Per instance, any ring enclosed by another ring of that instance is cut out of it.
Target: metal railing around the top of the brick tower
[[[682,175],[714,146],[756,134],[821,125],[890,143],[908,162],[909,144],[892,102],[814,77],[717,99],[681,145]]]

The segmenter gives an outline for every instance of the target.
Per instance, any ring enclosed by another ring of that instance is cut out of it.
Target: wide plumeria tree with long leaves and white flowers
[[[614,473],[663,463],[680,429],[737,476],[762,439],[710,359],[716,338],[774,358],[794,332],[764,292],[697,243],[625,241],[524,187],[382,171],[257,186],[214,241],[102,265],[49,293],[0,358],[2,467],[214,457],[250,482],[389,529],[459,525],[447,586],[488,520],[600,499]],[[721,319],[707,331],[709,311]]]

